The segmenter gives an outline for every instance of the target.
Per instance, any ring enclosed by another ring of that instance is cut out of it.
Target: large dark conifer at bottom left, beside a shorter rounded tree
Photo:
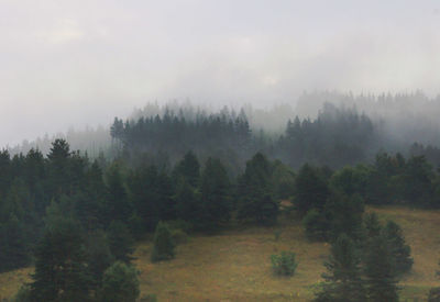
[[[88,301],[91,284],[78,223],[59,217],[46,226],[32,278],[34,301]]]

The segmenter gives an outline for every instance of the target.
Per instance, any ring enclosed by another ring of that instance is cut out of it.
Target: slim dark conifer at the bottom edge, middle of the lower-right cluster
[[[398,301],[394,258],[384,236],[370,239],[364,261],[369,301]]]

